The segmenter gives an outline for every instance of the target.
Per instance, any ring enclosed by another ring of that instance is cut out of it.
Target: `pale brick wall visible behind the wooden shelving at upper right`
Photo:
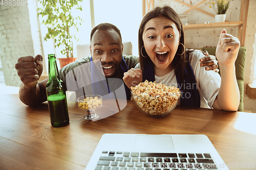
[[[183,2],[196,5],[202,0],[184,0]],[[167,4],[171,6],[178,14],[181,14],[188,10],[190,7],[185,6],[181,3],[178,3],[174,0],[155,0],[155,6],[162,6]],[[231,1],[230,7],[226,12],[226,20],[228,21],[238,21],[240,14],[240,0]],[[201,4],[197,8],[207,11],[211,14],[216,14],[212,8],[209,8],[209,4],[207,2]],[[215,22],[215,18],[209,15],[206,15],[200,11],[195,9],[189,11],[187,13],[187,20],[189,24],[194,23],[205,23],[205,22]],[[227,33],[232,34],[234,36],[238,35],[238,28],[225,28]],[[200,48],[204,46],[216,46],[219,41],[219,36],[222,29],[199,29],[199,30],[186,30],[185,31],[185,46],[190,48]]]

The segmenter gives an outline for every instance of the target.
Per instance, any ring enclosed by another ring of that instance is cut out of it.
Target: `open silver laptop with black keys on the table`
[[[103,134],[86,170],[228,169],[206,135]]]

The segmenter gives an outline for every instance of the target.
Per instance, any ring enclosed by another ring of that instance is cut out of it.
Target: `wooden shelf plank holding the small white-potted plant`
[[[227,28],[227,27],[242,27],[243,21],[234,22],[217,22],[217,23],[197,23],[190,25],[183,25],[184,30],[195,30],[195,29],[210,29],[210,28]]]

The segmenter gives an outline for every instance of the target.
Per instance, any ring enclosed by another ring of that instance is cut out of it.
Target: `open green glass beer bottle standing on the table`
[[[53,127],[62,127],[69,124],[69,112],[64,83],[59,79],[59,71],[55,54],[48,55],[49,81],[46,84],[46,93],[50,119]]]

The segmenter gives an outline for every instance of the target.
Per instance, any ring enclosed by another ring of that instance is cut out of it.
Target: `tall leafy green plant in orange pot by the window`
[[[82,11],[81,6],[78,5],[78,2],[82,2],[82,0],[38,0],[38,2],[43,6],[38,8],[38,15],[46,17],[42,23],[48,28],[48,33],[45,35],[44,40],[54,38],[55,47],[64,46],[60,52],[66,55],[66,58],[58,58],[60,67],[63,67],[76,59],[73,56],[72,41],[72,38],[76,39],[76,37],[71,35],[70,30],[76,28],[78,31],[78,22],[71,15],[71,11],[74,9]],[[82,22],[80,17],[76,19]],[[81,25],[81,23],[79,24]]]

